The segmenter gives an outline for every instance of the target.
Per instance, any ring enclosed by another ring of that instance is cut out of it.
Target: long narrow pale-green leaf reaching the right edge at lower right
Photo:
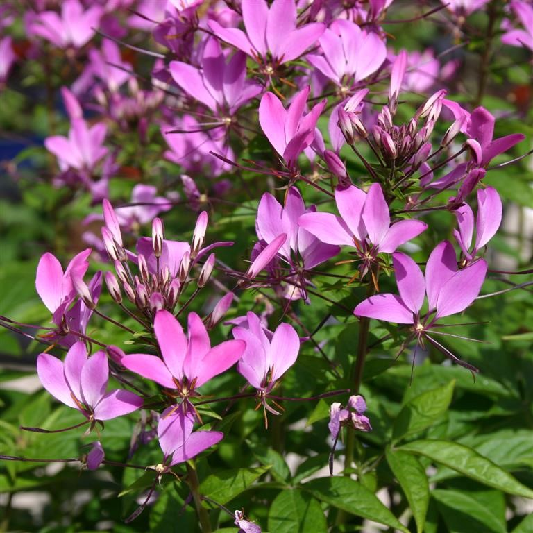
[[[533,490],[525,487],[511,474],[483,457],[475,450],[451,441],[421,440],[398,448],[405,452],[423,455],[441,463],[466,477],[500,489],[515,496],[533,498]]]

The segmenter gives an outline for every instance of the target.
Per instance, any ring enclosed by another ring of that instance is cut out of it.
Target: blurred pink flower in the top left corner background
[[[83,10],[78,0],[63,0],[61,16],[55,11],[43,11],[38,14],[28,12],[26,28],[28,35],[39,35],[58,48],[81,48],[94,35],[98,27],[103,8],[91,6]]]

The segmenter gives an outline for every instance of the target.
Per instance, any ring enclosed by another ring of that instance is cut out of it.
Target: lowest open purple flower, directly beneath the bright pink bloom
[[[192,431],[194,413],[180,405],[166,409],[158,423],[158,438],[165,459],[172,457],[169,466],[196,457],[203,450],[221,441],[219,431]]]

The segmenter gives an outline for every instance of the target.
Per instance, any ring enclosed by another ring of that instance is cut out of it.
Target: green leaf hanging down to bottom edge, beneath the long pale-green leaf
[[[400,483],[409,507],[413,511],[416,531],[421,533],[424,530],[425,515],[430,503],[430,487],[425,470],[413,455],[400,451],[393,452],[390,448],[385,450],[385,454],[387,463]]]

